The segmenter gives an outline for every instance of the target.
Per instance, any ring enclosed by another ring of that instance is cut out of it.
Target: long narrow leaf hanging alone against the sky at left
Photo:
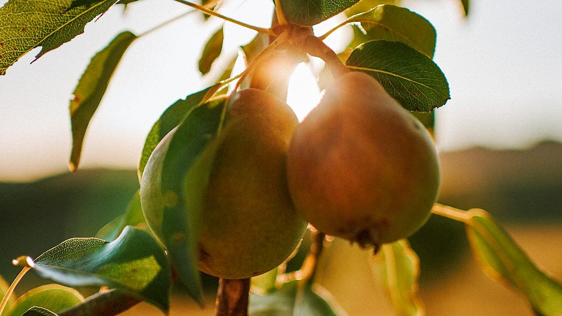
[[[107,47],[96,53],[82,74],[70,101],[70,121],[72,125],[72,152],[70,170],[78,168],[82,143],[90,119],[96,112],[109,80],[121,57],[137,35],[125,31],[117,35]]]

